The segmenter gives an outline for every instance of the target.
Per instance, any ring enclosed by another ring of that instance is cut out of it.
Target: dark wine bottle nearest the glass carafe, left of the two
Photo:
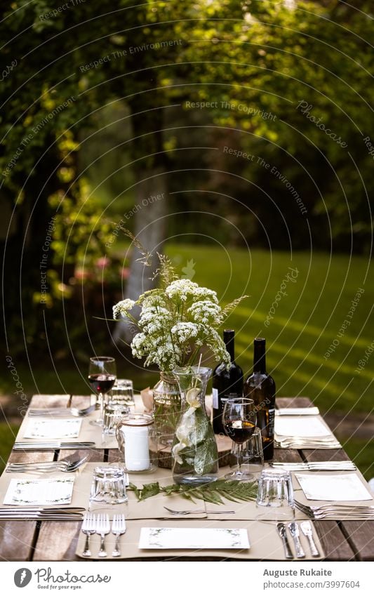
[[[224,433],[222,425],[222,413],[225,402],[230,397],[241,397],[243,394],[243,371],[235,362],[234,349],[235,331],[225,329],[223,340],[226,350],[229,352],[231,364],[227,370],[225,362],[221,362],[213,371],[213,430],[219,435]]]

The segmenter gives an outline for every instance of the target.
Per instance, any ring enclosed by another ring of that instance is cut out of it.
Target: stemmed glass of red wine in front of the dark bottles
[[[225,475],[229,480],[253,480],[251,473],[241,469],[243,461],[243,444],[248,441],[256,428],[256,409],[253,399],[236,397],[227,399],[222,414],[223,430],[227,437],[237,445],[235,450],[238,461],[238,468],[234,472]]]

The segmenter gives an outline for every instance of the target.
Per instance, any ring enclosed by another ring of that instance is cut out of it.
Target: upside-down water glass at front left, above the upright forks
[[[90,501],[93,503],[126,503],[126,477],[123,468],[100,465],[93,470]]]

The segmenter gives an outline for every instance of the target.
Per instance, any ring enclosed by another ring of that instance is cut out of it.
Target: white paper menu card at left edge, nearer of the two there
[[[72,502],[74,478],[12,478],[4,505],[68,505]]]

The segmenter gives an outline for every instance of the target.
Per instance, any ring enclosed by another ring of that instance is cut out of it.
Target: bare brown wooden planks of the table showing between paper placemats
[[[87,396],[36,395],[32,407],[85,406]],[[307,397],[282,397],[277,406],[305,407]],[[74,451],[76,452],[76,451]],[[53,461],[69,456],[73,451],[12,451],[9,461]],[[81,450],[81,453],[85,453]],[[116,449],[91,449],[91,461],[115,461]],[[343,449],[295,450],[276,449],[275,461],[348,460]],[[374,521],[315,521],[314,526],[326,552],[326,561],[373,561]],[[81,522],[0,522],[0,559],[3,561],[76,561],[76,542]],[[152,560],[152,559],[147,559]],[[180,560],[180,559],[179,559]],[[188,559],[192,560],[192,559]],[[201,558],[199,559],[201,560]]]

